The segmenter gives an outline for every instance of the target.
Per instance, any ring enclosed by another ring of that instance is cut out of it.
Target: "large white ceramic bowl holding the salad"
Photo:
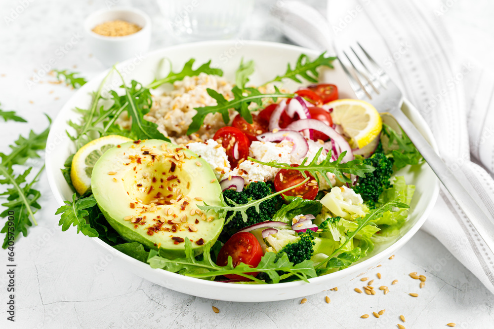
[[[212,64],[222,68],[226,78],[233,81],[240,59],[244,57],[247,60],[253,59],[255,61],[255,73],[252,75],[251,81],[261,83],[285,72],[287,63],[294,63],[300,53],[314,57],[319,55],[314,50],[272,42],[249,41],[244,42],[241,46],[236,41],[189,43],[150,53],[135,70],[126,76],[126,79],[136,79],[146,84],[154,79],[158,63],[162,58],[170,59],[173,63],[173,70],[176,72],[182,68],[188,59],[193,57],[197,63],[204,63],[211,59]],[[229,56],[225,54],[229,54]],[[128,64],[122,63],[121,67]],[[72,132],[67,121],[80,118],[80,115],[73,109],[76,107],[88,108],[91,102],[91,92],[97,89],[106,74],[107,72],[102,73],[82,86],[65,104],[50,130],[46,146],[46,171],[51,189],[59,205],[63,205],[63,201],[70,199],[73,194],[60,172],[65,159],[75,151],[73,143],[65,133],[65,130]],[[334,70],[325,69],[322,71],[321,81],[336,84],[342,98],[355,97],[345,74],[336,63]],[[296,88],[296,84],[292,82],[286,83],[285,86]],[[403,110],[437,150],[432,133],[417,110],[408,101],[405,101]],[[391,122],[392,118],[385,116],[384,121]],[[272,285],[238,285],[200,280],[162,269],[152,269],[148,264],[122,254],[98,238],[88,239],[92,239],[105,252],[111,253],[123,263],[126,269],[151,282],[178,292],[211,299],[243,302],[273,301],[307,296],[331,289],[364,275],[402,247],[424,223],[438,195],[439,183],[436,176],[427,164],[422,165],[420,169],[404,168],[399,175],[404,175],[408,183],[416,185],[409,219],[402,228],[401,235],[396,237],[394,241],[377,245],[371,255],[364,260],[344,270],[310,279],[310,283],[295,281]],[[64,234],[75,234],[75,229]]]

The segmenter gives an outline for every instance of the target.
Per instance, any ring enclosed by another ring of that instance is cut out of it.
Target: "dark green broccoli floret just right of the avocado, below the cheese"
[[[259,200],[272,193],[273,190],[268,184],[264,182],[253,182],[247,185],[242,192],[227,189],[223,192],[223,196],[225,196],[226,204],[230,207],[234,207],[228,199],[233,200],[237,204],[246,204],[248,201]],[[242,214],[235,214],[232,220],[225,225],[224,231],[231,235],[244,227],[260,223],[261,221],[271,220],[273,215],[280,209],[281,205],[282,198],[280,195],[276,195],[259,205],[259,213],[257,213],[254,207],[247,209],[247,222],[242,219]],[[226,215],[227,218],[232,216],[232,214],[233,212],[228,212]]]

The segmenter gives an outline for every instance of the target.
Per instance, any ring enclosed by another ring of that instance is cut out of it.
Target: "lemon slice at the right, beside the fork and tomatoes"
[[[327,104],[333,108],[331,118],[351,137],[350,146],[362,148],[371,143],[381,132],[382,120],[379,112],[369,103],[340,99]]]

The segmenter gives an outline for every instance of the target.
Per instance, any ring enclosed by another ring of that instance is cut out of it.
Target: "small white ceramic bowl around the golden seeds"
[[[92,31],[101,23],[117,19],[137,24],[141,30],[123,37],[106,37]],[[135,8],[102,9],[87,16],[84,32],[92,53],[103,65],[110,67],[148,51],[151,44],[151,19],[142,10]]]

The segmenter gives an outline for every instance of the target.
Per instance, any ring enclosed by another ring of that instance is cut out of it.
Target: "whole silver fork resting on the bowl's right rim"
[[[453,172],[443,160],[441,160],[434,149],[432,149],[410,119],[403,113],[401,110],[403,93],[398,86],[391,80],[389,75],[377,65],[360,43],[357,42],[357,44],[366,58],[362,60],[357,52],[350,47],[350,50],[353,53],[353,55],[351,54],[352,57],[355,57],[358,61],[354,60],[355,63],[357,63],[357,66],[359,66],[359,69],[354,62],[352,62],[350,56],[344,51],[343,55],[351,66],[346,67],[342,61],[339,60],[356,96],[361,100],[371,103],[379,112],[388,112],[395,118],[403,131],[408,135],[413,145],[422,154],[434,173],[436,173],[436,176],[451,193],[468,219],[470,219],[489,249],[494,253],[493,219],[484,213],[465,187],[463,187],[463,185],[455,178]],[[340,59],[340,56],[338,56],[338,59]],[[365,64],[366,62],[367,64]],[[358,63],[360,63],[360,65]]]

